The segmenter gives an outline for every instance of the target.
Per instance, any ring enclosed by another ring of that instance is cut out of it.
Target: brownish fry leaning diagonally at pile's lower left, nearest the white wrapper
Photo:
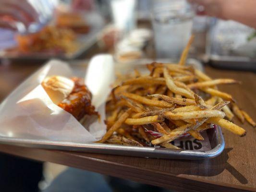
[[[106,132],[106,134],[102,137],[101,140],[97,141],[96,143],[104,143],[110,136],[115,132],[117,129],[120,128],[122,123],[130,116],[132,109],[128,109],[125,111],[122,116],[112,125],[112,127]]]

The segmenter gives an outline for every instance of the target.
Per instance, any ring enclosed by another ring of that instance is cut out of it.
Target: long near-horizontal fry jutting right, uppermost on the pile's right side
[[[203,88],[203,87],[210,87],[217,84],[239,84],[240,82],[233,80],[233,79],[215,79],[211,81],[199,82],[195,84],[189,84],[188,87],[190,89],[194,88]]]

